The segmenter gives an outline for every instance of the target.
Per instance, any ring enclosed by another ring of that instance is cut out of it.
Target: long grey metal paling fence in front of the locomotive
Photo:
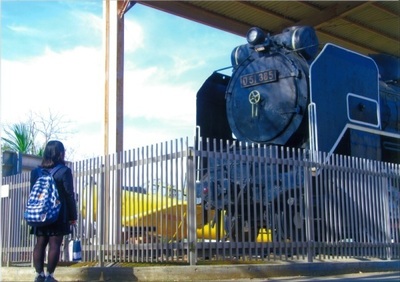
[[[72,169],[83,261],[400,257],[398,164],[186,138]],[[30,263],[29,173],[1,192],[2,263]]]

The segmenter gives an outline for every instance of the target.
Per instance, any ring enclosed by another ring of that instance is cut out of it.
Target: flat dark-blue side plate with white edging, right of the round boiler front
[[[379,71],[373,59],[327,44],[311,64],[310,90],[311,126],[318,128],[310,136],[312,149],[333,153],[346,147],[340,143],[348,131],[381,129]]]

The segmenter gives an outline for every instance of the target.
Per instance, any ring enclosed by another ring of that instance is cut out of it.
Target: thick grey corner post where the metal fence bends
[[[197,261],[197,233],[196,233],[196,187],[195,187],[195,151],[187,150],[187,203],[188,203],[188,255],[190,265]]]

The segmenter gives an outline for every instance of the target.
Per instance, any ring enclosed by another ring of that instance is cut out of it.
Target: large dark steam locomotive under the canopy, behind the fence
[[[399,58],[364,56],[333,44],[320,50],[308,26],[277,35],[254,27],[246,38],[247,44],[232,51],[232,75],[214,72],[197,93],[202,138],[400,162]],[[214,143],[218,150],[230,150],[220,144]],[[227,196],[233,184],[216,183],[222,174],[216,164],[203,168],[207,181],[199,182],[197,193],[206,208],[223,210],[236,221],[244,218],[252,202],[233,206]],[[260,189],[258,184],[250,186]]]

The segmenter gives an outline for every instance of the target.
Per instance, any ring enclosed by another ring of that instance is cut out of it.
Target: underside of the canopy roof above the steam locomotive
[[[320,43],[361,54],[400,57],[400,1],[137,1],[245,36],[253,26],[271,34],[313,26]]]

